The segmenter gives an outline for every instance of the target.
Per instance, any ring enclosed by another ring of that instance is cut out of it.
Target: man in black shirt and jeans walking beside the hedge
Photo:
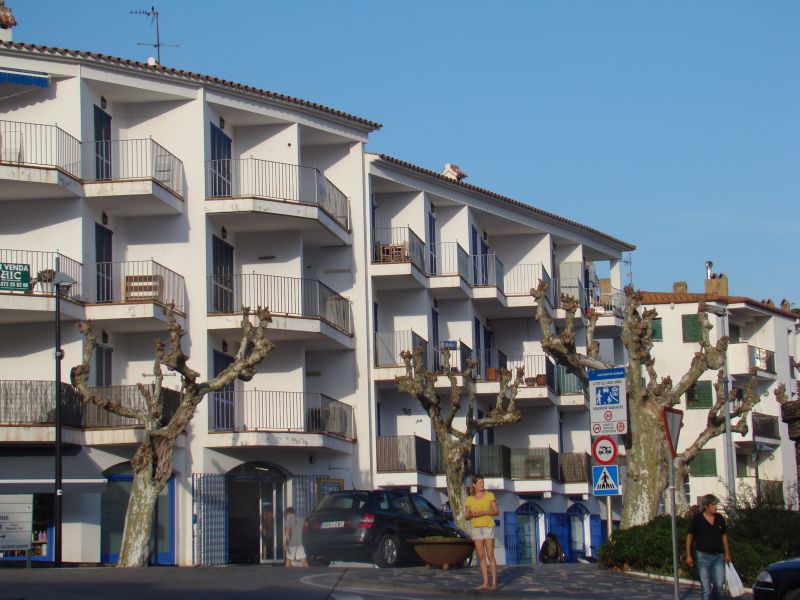
[[[691,567],[695,563],[692,558],[694,542],[703,600],[721,597],[725,563],[731,562],[728,529],[725,519],[717,514],[718,504],[719,500],[713,494],[703,496],[700,500],[701,510],[692,517],[686,534],[686,564]]]

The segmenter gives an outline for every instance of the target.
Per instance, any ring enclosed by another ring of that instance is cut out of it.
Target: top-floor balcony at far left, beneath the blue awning
[[[81,195],[81,144],[55,125],[0,121],[0,200]]]

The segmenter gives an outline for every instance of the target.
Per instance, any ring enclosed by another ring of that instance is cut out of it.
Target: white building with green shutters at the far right
[[[791,401],[797,401],[798,374],[794,368],[798,356],[800,317],[784,301],[780,306],[728,293],[726,277],[708,278],[702,293],[690,293],[685,282],[674,284],[672,292],[643,292],[643,308],[655,308],[653,321],[653,356],[660,377],[673,381],[689,368],[697,349],[700,330],[697,305],[709,306],[712,325],[710,342],[730,336],[725,379],[731,390],[741,389],[755,369],[753,390],[761,399],[747,416],[748,433],[731,436],[731,468],[737,496],[758,495],[773,501],[797,506],[797,463],[795,446],[787,424],[781,419],[781,406],[775,389],[784,384]],[[678,451],[688,447],[706,426],[706,414],[715,401],[716,371],[705,373],[684,395],[684,411]],[[741,397],[741,394],[740,396]],[[735,421],[734,421],[735,422]],[[713,493],[728,497],[725,436],[709,441],[690,465],[688,487],[684,489],[689,504],[699,496]]]

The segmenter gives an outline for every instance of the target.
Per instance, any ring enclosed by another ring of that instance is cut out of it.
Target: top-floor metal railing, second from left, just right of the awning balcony
[[[85,181],[153,179],[183,197],[183,162],[148,139],[81,142]]]

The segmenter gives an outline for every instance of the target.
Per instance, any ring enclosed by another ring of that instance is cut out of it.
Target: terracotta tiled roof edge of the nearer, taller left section
[[[69,50],[67,48],[40,46],[37,44],[23,44],[20,42],[0,42],[0,50],[2,49],[11,49],[22,52],[29,52],[31,54],[39,54],[42,56],[47,56],[49,54],[49,55],[62,56],[68,58],[86,59],[86,60],[96,61],[99,63],[122,65],[125,67],[130,67],[132,69],[136,69],[138,71],[145,71],[148,73],[177,77],[180,79],[189,79],[201,83],[211,83],[215,85],[224,86],[230,89],[239,90],[250,94],[255,94],[258,96],[263,96],[271,100],[277,100],[279,102],[285,102],[287,104],[294,104],[296,106],[302,106],[305,108],[318,110],[324,113],[328,113],[330,115],[334,115],[336,117],[340,117],[342,119],[346,119],[348,121],[352,121],[354,123],[358,123],[360,125],[364,125],[371,130],[380,129],[382,127],[380,123],[376,123],[375,121],[362,119],[361,117],[356,117],[354,115],[350,115],[340,110],[329,108],[327,106],[323,106],[322,104],[317,104],[316,102],[309,102],[308,100],[303,100],[301,98],[294,98],[292,96],[287,96],[285,94],[279,94],[277,92],[270,92],[269,90],[262,90],[260,88],[252,87],[249,85],[243,85],[241,83],[236,83],[235,81],[228,81],[226,79],[220,79],[219,77],[213,77],[211,75],[193,73],[191,71],[174,69],[172,67],[165,67],[163,65],[148,65],[147,63],[131,59],[118,58],[116,56],[99,54],[97,52],[87,52],[85,50]]]

